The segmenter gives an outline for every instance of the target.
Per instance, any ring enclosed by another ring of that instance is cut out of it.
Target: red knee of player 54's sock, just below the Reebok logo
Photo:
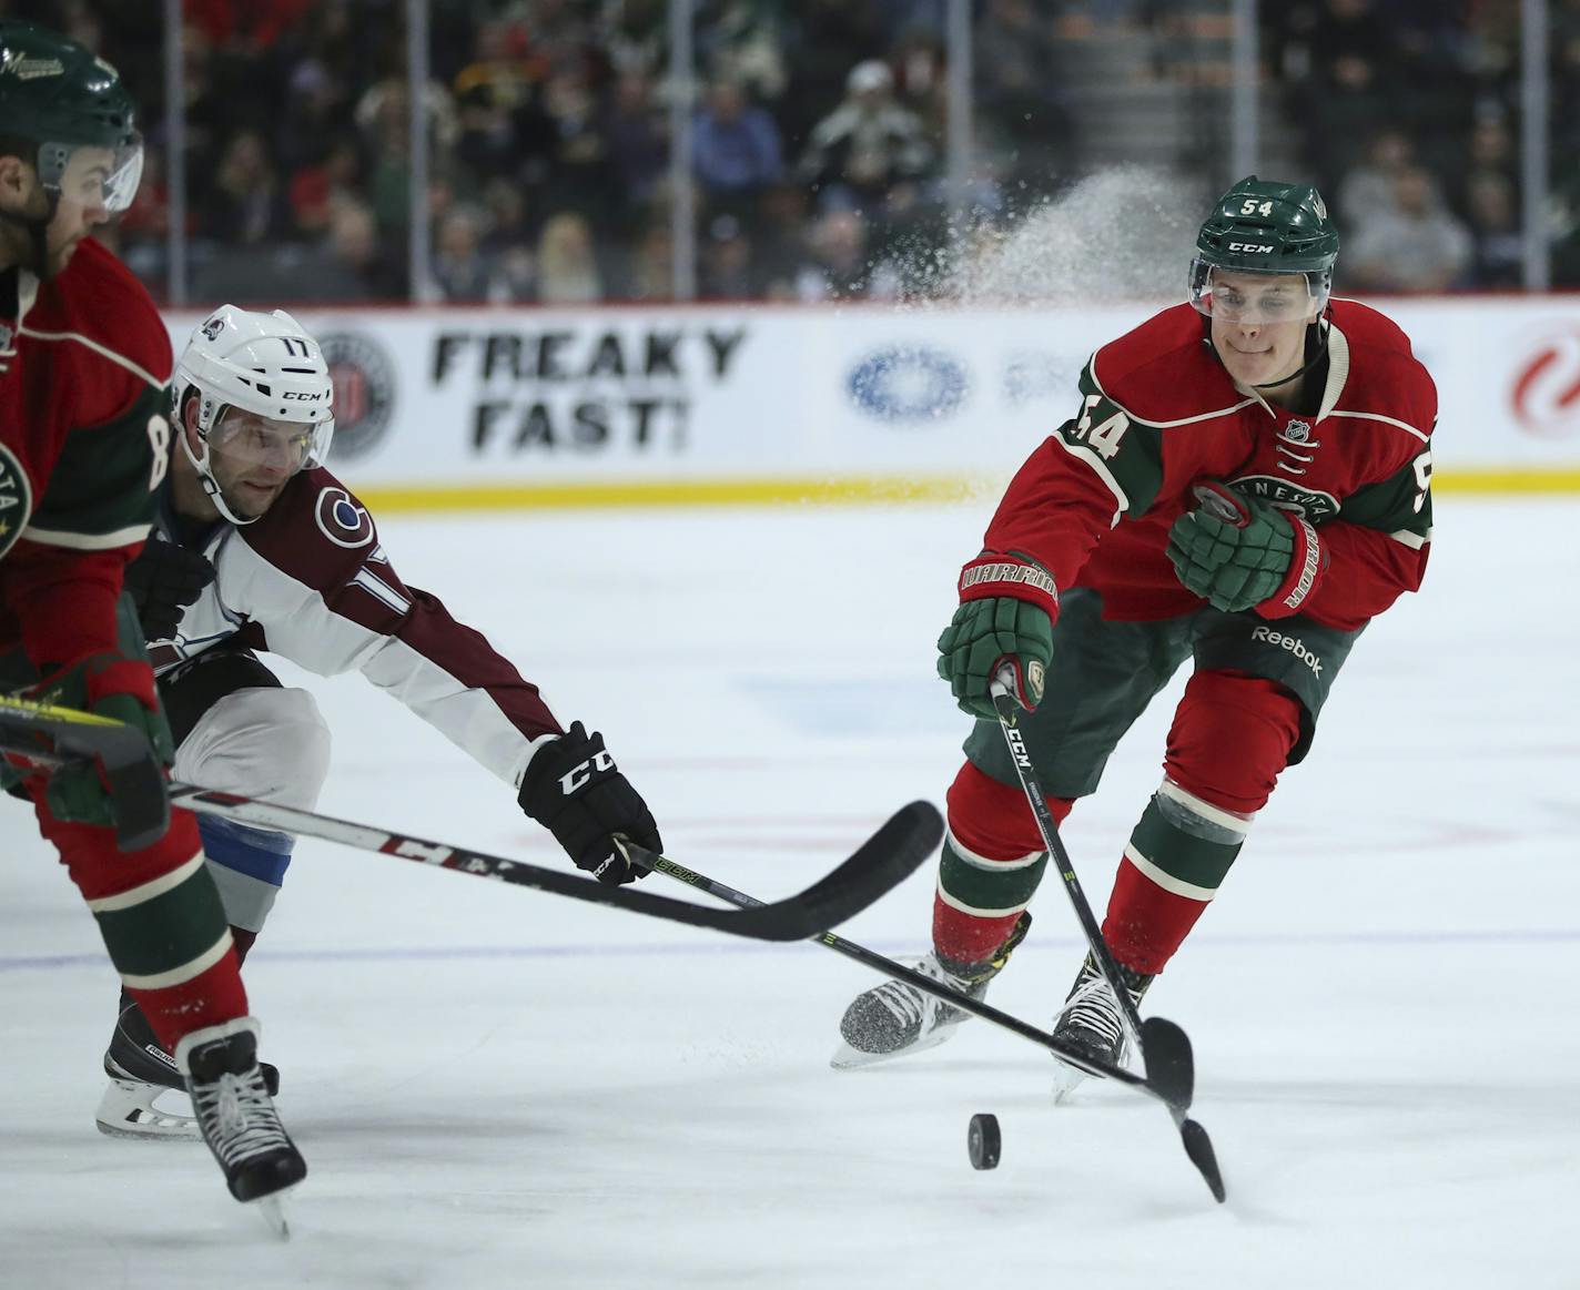
[[[1163,769],[1187,794],[1251,816],[1267,805],[1300,737],[1300,701],[1277,681],[1201,671],[1174,714]]]

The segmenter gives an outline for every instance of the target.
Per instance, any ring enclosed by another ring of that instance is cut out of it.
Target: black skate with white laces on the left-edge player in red
[[[307,1178],[307,1161],[286,1137],[258,1066],[258,1022],[239,1017],[185,1036],[175,1064],[186,1075],[204,1142],[224,1170],[231,1195],[269,1202],[269,1219],[284,1232],[280,1195]]]

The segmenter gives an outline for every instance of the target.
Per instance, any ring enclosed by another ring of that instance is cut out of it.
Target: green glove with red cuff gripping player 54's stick
[[[1054,657],[1055,617],[1052,575],[1029,556],[986,553],[965,565],[961,608],[939,636],[939,676],[961,711],[997,718],[992,682],[1005,665],[1014,673],[1016,703],[1036,707]]]

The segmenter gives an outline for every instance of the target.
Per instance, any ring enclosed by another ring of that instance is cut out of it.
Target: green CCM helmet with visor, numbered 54
[[[1240,322],[1315,319],[1327,308],[1337,259],[1338,231],[1321,193],[1308,183],[1247,175],[1218,197],[1196,235],[1190,302],[1204,314]],[[1215,289],[1220,272],[1286,281],[1253,302],[1243,291]]]

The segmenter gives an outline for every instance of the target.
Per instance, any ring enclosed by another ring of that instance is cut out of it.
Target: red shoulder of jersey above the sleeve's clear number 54
[[[1111,403],[1153,425],[1194,420],[1245,401],[1202,343],[1190,305],[1153,314],[1092,355],[1092,374]]]

